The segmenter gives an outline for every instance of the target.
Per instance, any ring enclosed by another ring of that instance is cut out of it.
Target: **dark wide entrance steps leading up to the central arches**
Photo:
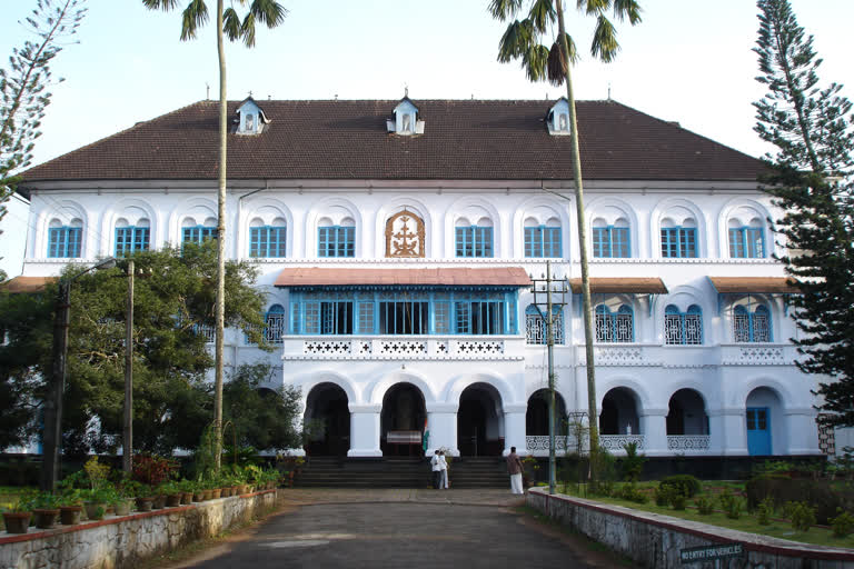
[[[502,457],[454,458],[451,488],[509,487]],[[425,457],[307,457],[294,480],[298,488],[429,488],[430,462]]]

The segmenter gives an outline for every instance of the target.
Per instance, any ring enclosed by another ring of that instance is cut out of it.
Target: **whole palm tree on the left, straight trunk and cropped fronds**
[[[179,0],[142,0],[150,10],[169,11],[178,6]],[[242,21],[234,4],[249,4],[249,10]],[[224,7],[224,0],[217,0],[217,53],[219,56],[219,191],[217,198],[217,302],[216,302],[216,371],[214,423],[216,426],[216,465],[219,469],[222,451],[222,337],[225,327],[226,305],[226,158],[227,158],[227,111],[226,98],[226,49],[224,36],[230,41],[242,40],[247,48],[255,46],[256,23],[275,28],[284,20],[288,11],[276,0],[232,0],[231,6]],[[181,41],[196,38],[199,27],[208,21],[208,7],[205,0],[189,0],[183,9],[181,21]]]

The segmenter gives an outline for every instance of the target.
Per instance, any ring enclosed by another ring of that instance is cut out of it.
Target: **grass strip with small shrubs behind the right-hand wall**
[[[619,485],[617,485],[619,486]],[[669,506],[656,506],[653,500],[652,489],[656,488],[655,482],[638,482],[636,485],[640,489],[648,490],[649,501],[646,503],[637,503],[627,500],[620,500],[617,498],[602,497],[602,496],[585,496],[576,491],[577,485],[567,485],[566,487],[558,486],[558,490],[564,490],[564,493],[568,496],[579,496],[588,500],[595,500],[603,503],[612,503],[616,506],[623,506],[625,508],[632,508],[635,510],[648,511],[654,513],[663,513],[674,518],[684,520],[699,521],[702,523],[708,523],[711,526],[719,526],[722,528],[735,529],[739,531],[747,531],[749,533],[759,533],[762,536],[769,536],[774,538],[788,539],[791,541],[801,541],[803,543],[812,543],[816,546],[831,546],[831,547],[845,547],[854,548],[854,536],[847,536],[844,538],[837,538],[833,536],[833,532],[828,528],[812,527],[810,531],[795,531],[788,521],[776,521],[772,519],[772,522],[767,526],[762,526],[756,521],[756,516],[749,513],[746,510],[742,511],[741,518],[737,520],[727,518],[723,511],[715,511],[708,516],[701,516],[696,509],[691,508],[694,499],[688,500],[688,508],[685,510],[674,510]],[[722,489],[727,489],[732,492],[742,492],[744,490],[744,483],[742,482],[704,482],[703,493],[712,496],[715,502],[717,501],[717,495]],[[695,497],[696,498],[696,497]],[[715,508],[719,508],[719,505],[715,503]],[[777,512],[777,516],[782,516]]]

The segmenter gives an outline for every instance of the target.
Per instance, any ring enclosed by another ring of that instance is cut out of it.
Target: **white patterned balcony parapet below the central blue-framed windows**
[[[285,336],[285,360],[489,360],[525,358],[518,336]]]

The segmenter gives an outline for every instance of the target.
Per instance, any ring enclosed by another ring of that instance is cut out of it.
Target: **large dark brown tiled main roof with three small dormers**
[[[229,179],[569,180],[554,101],[416,101],[424,134],[386,130],[399,101],[259,101],[260,136],[229,134]],[[217,102],[201,101],[24,172],[24,180],[217,178]],[[229,103],[234,118],[237,102]],[[762,163],[614,101],[579,101],[585,179],[753,181]],[[714,120],[712,117],[709,120]],[[27,183],[23,183],[26,188]]]

